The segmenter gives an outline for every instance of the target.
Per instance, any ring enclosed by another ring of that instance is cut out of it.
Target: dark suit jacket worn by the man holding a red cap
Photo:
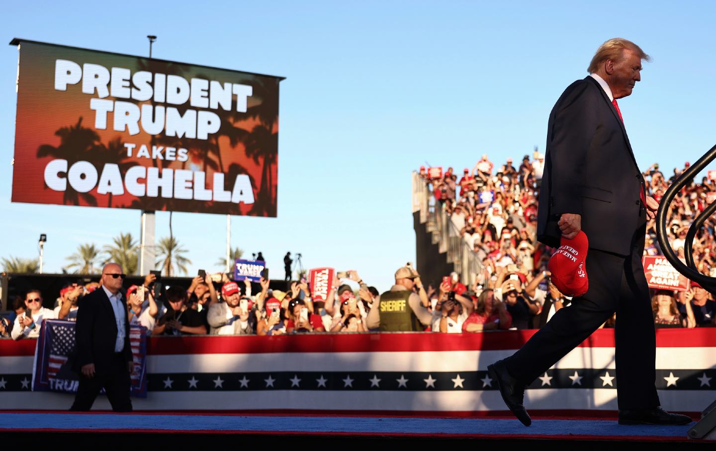
[[[563,213],[581,215],[589,248],[629,255],[644,243],[644,178],[627,131],[599,82],[592,77],[567,87],[549,115],[537,237],[559,246]]]

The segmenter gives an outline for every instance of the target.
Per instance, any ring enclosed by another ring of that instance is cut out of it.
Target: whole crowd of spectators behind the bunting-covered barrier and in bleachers
[[[684,170],[688,167],[686,163]],[[392,330],[386,326],[387,314],[380,314],[392,307],[383,309],[381,299],[386,305],[387,299],[400,303],[400,294],[410,293],[403,300],[409,308],[400,305],[410,313],[405,321],[411,324],[398,324],[395,330],[460,333],[538,329],[556,311],[571,303],[549,280],[547,263],[554,250],[536,241],[543,168],[544,155],[537,150],[532,158],[525,155],[519,168],[515,168],[511,158],[497,166],[488,155],[482,155],[473,170],[463,170],[459,181],[453,168],[438,177],[420,168],[420,176],[432,190],[436,205],[449,218],[448,226],[486,268],[488,278],[478,279],[473,286],[461,283],[458,273],[423,286],[417,272],[406,266],[395,273],[395,285],[390,291],[381,295],[364,283],[356,271],[349,271],[346,279],[334,278],[325,300],[314,300],[305,278],[287,281],[286,291],[269,289],[269,281],[261,278],[260,283],[253,283],[258,288],[255,293],[248,280],[231,281],[224,273],[197,276],[188,287],[163,286],[150,273],[142,285],[132,285],[126,290],[124,299],[130,324],[144,326],[153,335]],[[667,179],[659,171],[659,165],[650,166],[644,173],[647,195],[661,200],[681,173],[682,170],[674,168]],[[692,221],[714,199],[716,182],[703,178],[700,183],[689,180],[674,200],[668,215],[668,233],[680,258],[684,258],[684,239]],[[716,276],[712,271],[716,257],[714,233],[714,222],[709,219],[693,243],[697,268],[710,276]],[[650,220],[644,255],[661,253],[655,222]],[[284,258],[287,273],[291,261],[287,253]],[[11,302],[11,314],[0,319],[0,336],[37,337],[43,319],[73,321],[77,318],[79,299],[98,287],[95,282],[69,284],[59,291],[54,309],[43,307],[39,290],[28,291],[24,299],[16,297]],[[716,326],[716,301],[695,282],[691,282],[687,291],[652,290],[652,310],[657,327]],[[613,326],[614,321],[612,318],[604,326]]]

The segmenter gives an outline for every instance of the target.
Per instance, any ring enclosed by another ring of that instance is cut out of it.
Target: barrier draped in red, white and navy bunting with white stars
[[[137,410],[485,412],[505,410],[488,364],[535,331],[177,336],[147,340],[148,396]],[[32,392],[36,341],[0,341],[0,409],[67,409],[72,394]],[[616,410],[614,331],[596,331],[526,392],[537,410]],[[644,381],[645,384],[649,383]],[[716,328],[657,330],[665,409],[716,397]],[[108,409],[102,397],[96,409]]]

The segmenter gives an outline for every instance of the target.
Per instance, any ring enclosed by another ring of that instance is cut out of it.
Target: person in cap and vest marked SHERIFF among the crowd
[[[417,271],[403,266],[395,271],[395,285],[373,302],[366,325],[381,331],[423,331],[432,320],[429,305]]]

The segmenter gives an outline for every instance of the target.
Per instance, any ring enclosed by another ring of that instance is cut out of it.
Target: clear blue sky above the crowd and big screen
[[[208,6],[205,6],[208,5]],[[3,6],[13,37],[287,77],[281,82],[279,217],[234,217],[232,244],[282,276],[304,265],[356,269],[384,290],[415,260],[410,172],[472,168],[544,148],[547,116],[586,76],[596,47],[625,37],[651,54],[619,103],[637,161],[665,174],[716,142],[716,6],[707,1],[23,1]],[[1,41],[2,39],[0,39]],[[81,243],[139,236],[138,210],[10,203],[17,50],[0,46],[0,256],[60,271]],[[668,176],[667,175],[667,176]],[[169,213],[157,213],[168,236]],[[175,213],[198,268],[218,269],[226,217]]]

